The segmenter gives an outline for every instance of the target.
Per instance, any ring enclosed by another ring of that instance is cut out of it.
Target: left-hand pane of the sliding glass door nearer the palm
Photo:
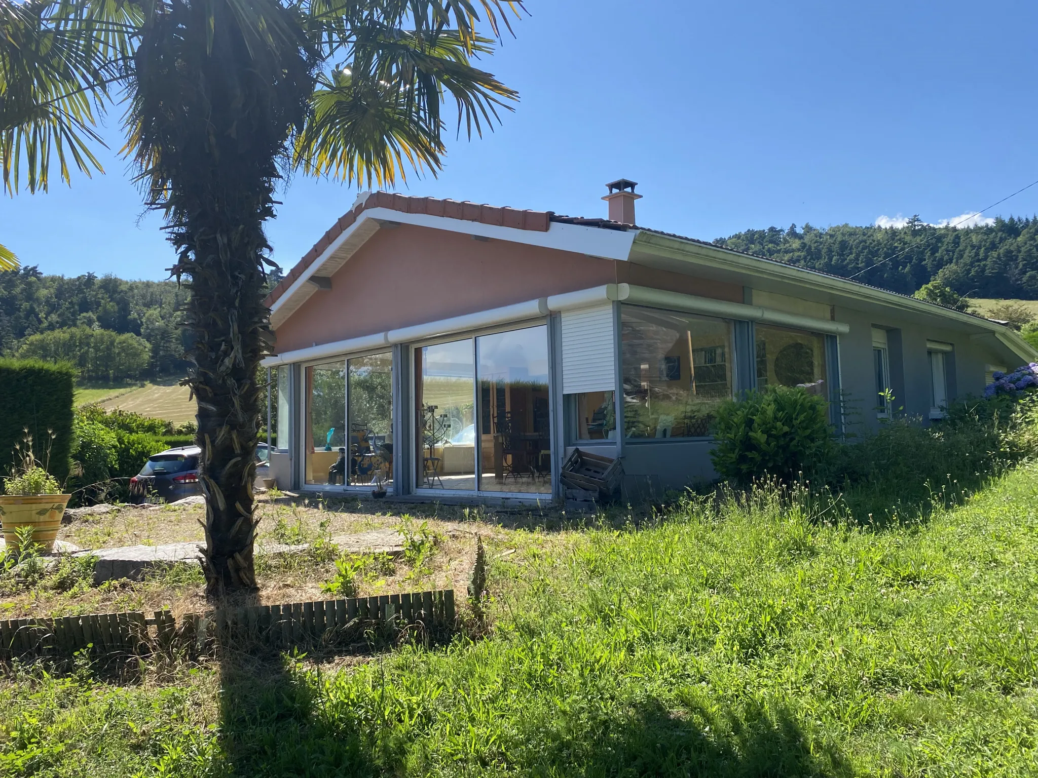
[[[306,482],[346,483],[346,362],[305,368]]]

